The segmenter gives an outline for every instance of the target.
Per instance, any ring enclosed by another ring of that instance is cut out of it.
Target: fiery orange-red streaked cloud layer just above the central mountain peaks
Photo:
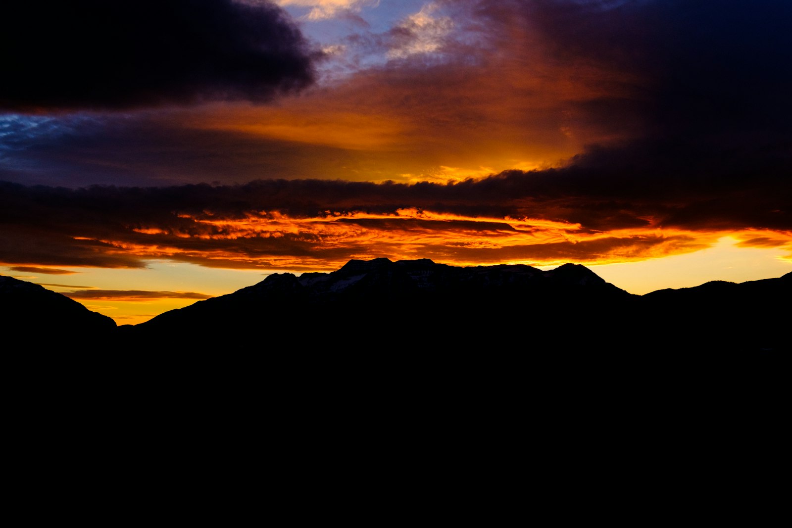
[[[325,211],[299,217],[281,211],[224,216],[178,215],[181,224],[138,226],[134,234],[95,241],[108,253],[172,259],[211,268],[331,271],[351,258],[432,258],[456,265],[616,264],[692,253],[726,233],[642,228],[597,231],[541,218],[486,218],[407,207],[395,213]],[[733,233],[741,245],[792,251],[792,236]]]

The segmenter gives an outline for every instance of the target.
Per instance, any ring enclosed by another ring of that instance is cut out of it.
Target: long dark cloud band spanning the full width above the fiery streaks
[[[195,220],[235,220],[251,214],[264,220],[268,214],[333,219],[333,215],[355,212],[393,215],[400,209],[416,208],[487,220],[476,222],[476,226],[460,222],[459,229],[508,229],[490,219],[512,217],[576,222],[592,230],[650,224],[689,229],[789,230],[789,170],[785,165],[765,169],[760,175],[720,170],[708,176],[685,167],[667,174],[650,168],[638,173],[573,165],[528,173],[505,171],[455,184],[256,180],[226,186],[68,189],[5,183],[0,184],[0,221],[6,230],[23,234],[40,230],[52,237],[73,234],[72,226],[92,226],[91,232],[97,237],[149,227],[185,235],[211,235],[223,234],[221,227],[196,224]],[[363,225],[383,221],[352,218],[342,222]],[[415,225],[403,218],[389,222],[390,227],[408,222],[405,229]],[[427,218],[421,225],[432,222],[436,220]],[[78,242],[89,248],[89,241]]]

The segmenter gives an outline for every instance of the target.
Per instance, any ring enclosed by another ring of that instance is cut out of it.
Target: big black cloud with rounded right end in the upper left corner
[[[4,2],[0,108],[268,101],[313,81],[278,7],[232,0]]]

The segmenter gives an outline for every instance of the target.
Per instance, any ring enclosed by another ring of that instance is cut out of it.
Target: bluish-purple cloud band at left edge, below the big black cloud
[[[184,127],[179,119],[169,112],[0,116],[0,135],[5,132],[0,180],[72,188],[234,184],[322,174],[332,165],[354,162],[351,153],[339,148]]]

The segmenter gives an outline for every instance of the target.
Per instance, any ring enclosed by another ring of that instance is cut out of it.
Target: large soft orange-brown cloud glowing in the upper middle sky
[[[418,20],[434,27],[426,17]],[[476,45],[416,37],[397,48],[402,59],[277,106],[215,104],[168,119],[256,139],[261,158],[284,170],[268,177],[294,177],[281,163],[296,149],[315,167],[301,177],[370,181],[453,181],[560,166],[584,144],[625,139],[640,128],[624,102],[641,84],[637,75],[583,60],[559,62],[526,23],[505,17],[478,26]],[[416,51],[423,47],[437,47],[444,59],[426,62]],[[619,115],[604,119],[610,107],[596,101],[622,101]],[[308,169],[307,161],[299,164]]]

